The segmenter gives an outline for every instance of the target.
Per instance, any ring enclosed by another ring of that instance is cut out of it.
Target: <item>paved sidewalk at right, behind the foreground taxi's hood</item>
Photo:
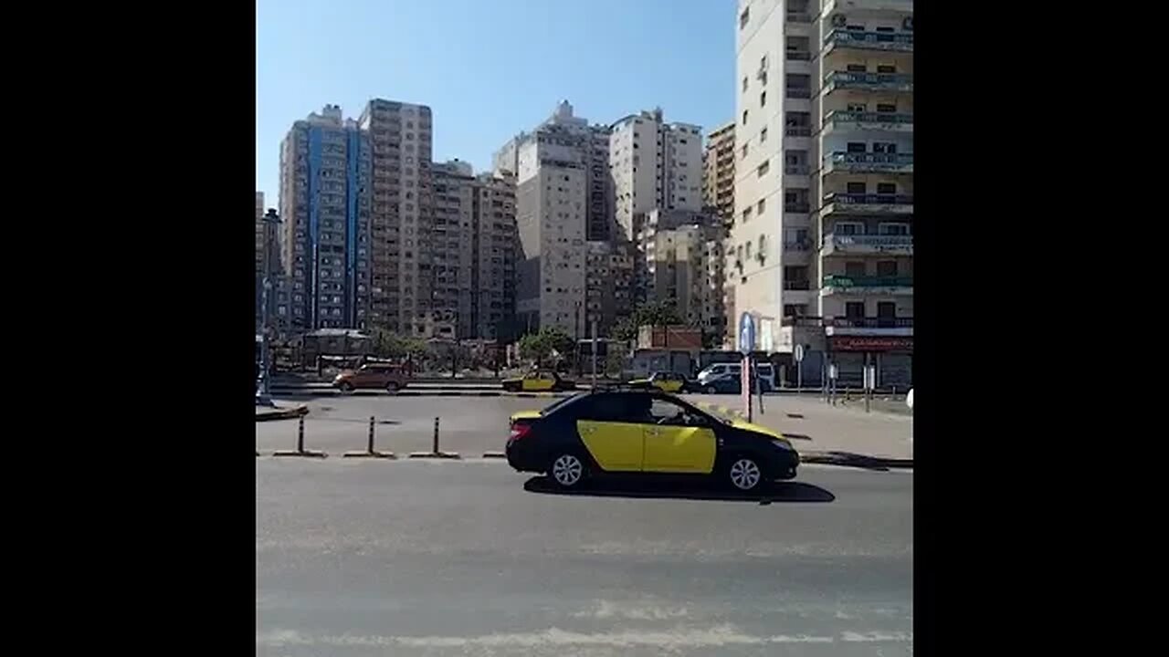
[[[846,407],[828,406],[817,397],[765,396],[753,400],[755,424],[775,429],[791,438],[800,452],[839,451],[883,459],[913,459],[913,416],[865,413],[864,402]],[[741,413],[738,397],[717,402]],[[722,409],[714,409],[724,415]]]

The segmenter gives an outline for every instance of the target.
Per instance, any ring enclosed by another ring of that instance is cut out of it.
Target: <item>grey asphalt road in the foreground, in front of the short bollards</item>
[[[256,461],[256,652],[909,655],[913,475],[553,495],[498,461]]]

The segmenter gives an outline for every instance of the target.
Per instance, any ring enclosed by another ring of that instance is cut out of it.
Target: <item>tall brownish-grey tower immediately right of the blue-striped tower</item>
[[[358,125],[372,153],[367,324],[429,334],[435,299],[440,311],[449,307],[448,293],[435,292],[430,108],[375,98]]]

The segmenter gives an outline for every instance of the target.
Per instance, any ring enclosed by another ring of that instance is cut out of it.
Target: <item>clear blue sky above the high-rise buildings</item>
[[[476,171],[567,98],[610,123],[734,113],[734,0],[257,0],[256,188],[277,205],[292,122],[373,97],[430,105],[434,159]]]

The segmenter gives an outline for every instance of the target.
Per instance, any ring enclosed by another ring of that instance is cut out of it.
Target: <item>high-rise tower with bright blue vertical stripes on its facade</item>
[[[293,331],[362,327],[371,147],[341,109],[292,124],[281,143],[279,215]]]

